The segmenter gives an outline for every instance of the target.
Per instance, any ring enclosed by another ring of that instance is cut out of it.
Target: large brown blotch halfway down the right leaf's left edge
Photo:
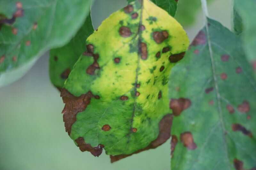
[[[174,116],[179,116],[181,112],[190,107],[191,101],[185,98],[171,99],[169,106]]]

